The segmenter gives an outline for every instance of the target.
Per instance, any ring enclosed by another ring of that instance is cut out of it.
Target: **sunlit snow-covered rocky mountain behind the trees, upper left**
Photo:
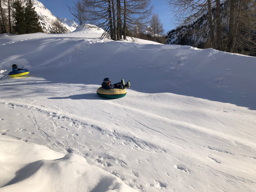
[[[37,15],[40,17],[40,23],[45,31],[45,33],[51,33],[52,30],[52,22],[57,18],[55,17],[49,9],[47,9],[41,2],[36,0],[31,0],[35,11],[37,12]],[[26,0],[23,0],[24,4],[26,3]],[[62,18],[61,22],[65,25],[68,32],[72,32],[78,27],[78,24],[74,22],[73,20],[69,20],[66,18]]]

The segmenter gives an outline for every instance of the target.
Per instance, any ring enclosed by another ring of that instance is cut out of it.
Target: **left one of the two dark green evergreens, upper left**
[[[22,3],[19,0],[16,0],[13,3],[13,8],[15,9],[15,11],[13,12],[13,18],[15,20],[13,29],[18,35],[25,34],[25,7],[22,6]]]

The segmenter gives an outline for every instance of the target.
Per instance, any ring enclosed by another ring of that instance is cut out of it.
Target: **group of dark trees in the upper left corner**
[[[0,34],[30,34],[43,32],[31,0],[0,0]]]

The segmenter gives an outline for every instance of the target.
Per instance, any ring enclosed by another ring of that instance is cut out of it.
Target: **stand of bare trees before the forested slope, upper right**
[[[256,56],[254,0],[167,0],[179,39],[200,48]],[[177,29],[176,29],[177,31]],[[177,44],[177,41],[176,41]]]

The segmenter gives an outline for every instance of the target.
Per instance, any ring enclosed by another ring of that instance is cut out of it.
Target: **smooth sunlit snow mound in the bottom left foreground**
[[[84,157],[0,137],[1,191],[135,191]],[[13,158],[15,156],[15,158]],[[12,167],[15,168],[12,168]]]

